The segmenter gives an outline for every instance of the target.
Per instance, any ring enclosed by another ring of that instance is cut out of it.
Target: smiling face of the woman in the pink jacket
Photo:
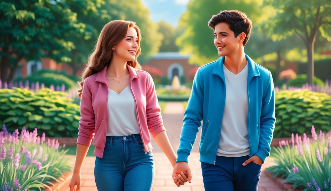
[[[136,52],[139,49],[137,31],[130,27],[125,37],[114,46],[113,56],[125,61],[134,61]]]

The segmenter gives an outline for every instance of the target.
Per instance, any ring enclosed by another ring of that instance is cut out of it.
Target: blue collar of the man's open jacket
[[[260,71],[258,67],[256,66],[255,62],[245,54],[245,57],[247,59],[247,64],[248,64],[248,78],[250,79],[253,76],[260,76]],[[224,56],[219,57],[216,60],[216,64],[213,69],[213,74],[216,74],[220,76],[224,80],[224,70],[223,70],[223,62],[224,62]]]

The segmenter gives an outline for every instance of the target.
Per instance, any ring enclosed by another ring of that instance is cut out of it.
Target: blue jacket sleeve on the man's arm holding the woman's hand
[[[193,79],[191,95],[184,112],[184,123],[180,134],[176,162],[188,162],[187,158],[190,155],[195,139],[197,138],[197,133],[203,118],[203,89],[203,79],[199,68]]]

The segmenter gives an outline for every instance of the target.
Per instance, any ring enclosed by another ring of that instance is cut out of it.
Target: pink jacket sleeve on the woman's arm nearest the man
[[[154,138],[161,131],[165,131],[161,116],[161,107],[156,96],[155,85],[152,76],[148,74],[146,82],[146,119],[149,132]]]

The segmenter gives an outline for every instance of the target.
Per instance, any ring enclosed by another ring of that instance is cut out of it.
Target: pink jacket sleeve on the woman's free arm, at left
[[[95,115],[92,107],[92,94],[88,81],[83,84],[80,100],[80,119],[78,127],[77,144],[90,146],[94,138]]]

